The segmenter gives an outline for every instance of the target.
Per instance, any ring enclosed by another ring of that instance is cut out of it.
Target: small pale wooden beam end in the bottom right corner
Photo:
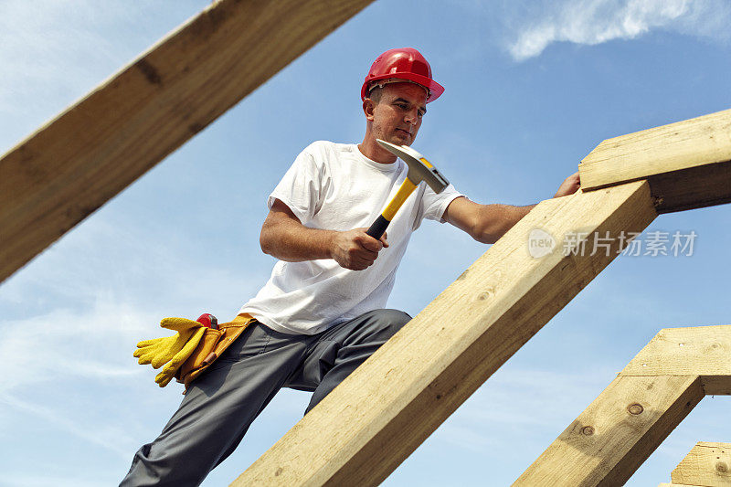
[[[673,483],[731,487],[731,443],[698,441],[671,473]]]

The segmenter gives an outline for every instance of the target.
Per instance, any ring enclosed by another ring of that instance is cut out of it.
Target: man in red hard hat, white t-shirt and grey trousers
[[[452,185],[423,183],[388,227],[365,233],[406,177],[376,139],[410,145],[426,105],[443,92],[413,48],[376,58],[361,90],[363,142],[320,141],[299,154],[269,197],[261,249],[280,259],[239,311],[256,319],[196,378],[161,435],[135,454],[122,485],[196,485],[236,449],[282,386],[313,391],[312,409],[408,323],[384,310],[410,234],[423,218],[493,243],[533,206],[479,205]],[[569,176],[556,196],[577,191]]]

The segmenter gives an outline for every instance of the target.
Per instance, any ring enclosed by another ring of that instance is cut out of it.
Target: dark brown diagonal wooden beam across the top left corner
[[[219,0],[0,159],[0,281],[372,0]]]

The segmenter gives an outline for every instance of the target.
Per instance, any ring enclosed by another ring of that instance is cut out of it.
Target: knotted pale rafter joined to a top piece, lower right
[[[705,395],[729,393],[729,354],[731,325],[661,330],[514,485],[627,482]]]

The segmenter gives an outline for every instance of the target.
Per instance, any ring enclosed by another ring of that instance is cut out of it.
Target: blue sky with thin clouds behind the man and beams
[[[5,0],[3,151],[206,5]],[[447,89],[414,147],[471,199],[527,205],[603,139],[729,108],[729,21],[722,0],[368,6],[0,286],[0,485],[122,479],[182,398],[134,344],[164,316],[228,320],[267,280],[266,196],[307,144],[362,139],[360,85],[380,52],[420,49]],[[694,254],[616,259],[385,485],[509,484],[661,328],[729,323],[730,216],[655,220],[647,231],[694,230]],[[486,249],[425,223],[389,306],[418,313]],[[282,390],[205,485],[244,471],[308,398]],[[697,440],[731,441],[729,407],[705,398],[628,485],[669,482]]]

